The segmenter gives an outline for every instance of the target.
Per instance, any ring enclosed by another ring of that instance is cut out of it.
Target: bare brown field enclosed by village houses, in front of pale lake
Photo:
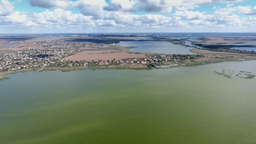
[[[68,56],[62,60],[69,61],[91,61],[91,60],[119,60],[119,59],[132,59],[132,58],[146,58],[144,54],[127,53],[116,50],[107,51],[82,51],[72,56]]]

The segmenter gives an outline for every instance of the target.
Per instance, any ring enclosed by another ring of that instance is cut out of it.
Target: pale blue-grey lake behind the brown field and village
[[[183,45],[175,45],[166,41],[121,41],[118,45],[123,45],[131,48],[130,51],[136,52],[149,52],[149,53],[165,53],[165,54],[196,54],[189,50],[191,47],[185,47]]]

